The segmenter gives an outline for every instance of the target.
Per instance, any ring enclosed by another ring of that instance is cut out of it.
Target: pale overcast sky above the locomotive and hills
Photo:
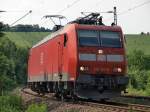
[[[114,6],[117,7],[118,25],[124,33],[150,32],[150,0],[0,0],[0,10],[7,11],[0,13],[0,21],[11,25],[32,10],[16,24],[39,24],[52,28],[53,23],[43,16],[63,15],[67,18],[62,22],[65,24],[82,17],[81,12],[112,11]],[[101,15],[106,25],[113,22],[113,14]]]

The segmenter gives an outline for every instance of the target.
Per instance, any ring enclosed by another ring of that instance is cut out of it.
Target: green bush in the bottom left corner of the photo
[[[22,112],[22,100],[19,96],[0,96],[0,112]]]

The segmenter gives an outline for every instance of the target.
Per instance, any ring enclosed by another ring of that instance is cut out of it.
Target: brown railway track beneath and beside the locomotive
[[[51,98],[49,95],[39,95],[36,93],[33,93],[31,91],[28,91],[27,88],[23,88],[21,90],[25,94],[33,95],[35,97],[42,97],[42,98]],[[53,98],[52,98],[53,99]],[[53,99],[54,100],[54,99]],[[70,102],[68,102],[70,103]],[[130,104],[130,103],[116,103],[116,102],[94,102],[94,101],[78,101],[78,104],[90,106],[90,107],[96,107],[105,110],[106,112],[150,112],[150,106],[146,105],[139,105],[139,104]]]

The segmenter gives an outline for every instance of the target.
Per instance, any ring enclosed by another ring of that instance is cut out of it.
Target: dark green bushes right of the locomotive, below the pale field
[[[140,50],[128,55],[129,88],[143,91],[150,95],[150,56]],[[132,89],[132,90],[133,90]]]

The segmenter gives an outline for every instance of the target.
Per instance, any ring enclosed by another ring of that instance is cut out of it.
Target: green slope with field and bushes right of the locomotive
[[[129,94],[149,96],[150,35],[126,35],[126,40],[127,55],[129,58],[128,64],[131,65],[129,67],[128,74],[130,74],[130,79],[132,78],[132,86],[129,85],[128,87]],[[140,51],[141,53],[135,54],[135,50]],[[138,54],[140,55],[136,56]],[[141,68],[136,66],[138,64],[141,64]]]

